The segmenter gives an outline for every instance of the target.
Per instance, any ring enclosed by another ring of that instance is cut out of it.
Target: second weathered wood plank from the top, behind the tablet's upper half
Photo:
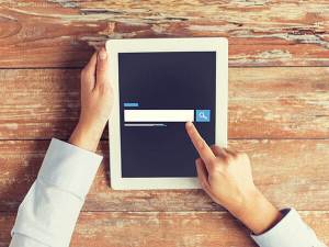
[[[67,138],[79,69],[0,70],[0,138]],[[328,138],[329,68],[230,68],[230,138]],[[104,135],[107,138],[107,135]]]

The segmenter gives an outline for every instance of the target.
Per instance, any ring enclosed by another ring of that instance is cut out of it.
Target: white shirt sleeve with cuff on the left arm
[[[53,138],[19,207],[10,247],[68,247],[102,156]]]

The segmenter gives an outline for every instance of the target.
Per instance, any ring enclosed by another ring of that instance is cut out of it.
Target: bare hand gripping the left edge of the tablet
[[[95,52],[81,71],[81,112],[70,144],[94,151],[113,106],[110,63],[105,48]]]

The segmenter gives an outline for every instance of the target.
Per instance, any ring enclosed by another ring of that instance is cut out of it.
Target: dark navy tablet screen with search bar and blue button
[[[120,53],[123,178],[195,177],[193,121],[215,143],[216,53]]]

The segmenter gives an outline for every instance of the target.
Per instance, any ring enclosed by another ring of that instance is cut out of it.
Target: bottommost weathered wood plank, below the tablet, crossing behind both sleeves
[[[329,244],[329,212],[300,212],[318,237]],[[10,242],[14,214],[0,213],[0,247]],[[249,233],[226,212],[83,212],[71,247],[256,247]]]

